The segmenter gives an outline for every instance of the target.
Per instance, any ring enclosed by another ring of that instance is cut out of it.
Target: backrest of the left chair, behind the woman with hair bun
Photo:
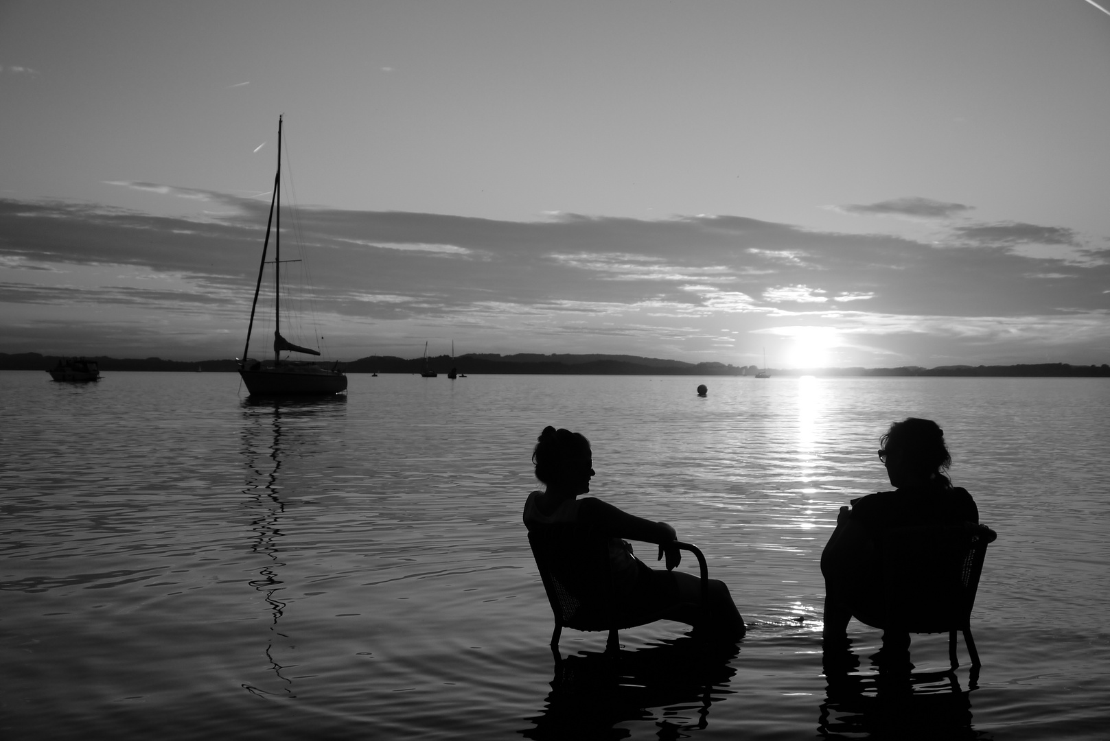
[[[555,623],[577,630],[613,626],[608,539],[575,525],[534,526],[528,544]]]

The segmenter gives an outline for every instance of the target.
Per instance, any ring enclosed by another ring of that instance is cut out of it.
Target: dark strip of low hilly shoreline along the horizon
[[[61,356],[39,353],[0,353],[0,370],[48,370]],[[97,361],[101,372],[160,370],[188,373],[234,373],[236,361],[165,361],[158,357],[114,358],[85,356]],[[372,355],[339,367],[347,373],[420,373],[423,358],[401,358]],[[535,374],[535,375],[618,375],[618,376],[754,376],[756,366],[735,366],[724,363],[684,363],[634,355],[493,355],[473,354],[452,358],[448,355],[427,358],[427,367],[446,374],[452,367],[460,373]],[[896,368],[768,368],[771,377],[889,377],[889,376],[965,376],[965,377],[1062,377],[1108,378],[1110,365],[1071,365],[1068,363],[1036,363],[1017,365],[948,365],[935,368],[902,366]]]

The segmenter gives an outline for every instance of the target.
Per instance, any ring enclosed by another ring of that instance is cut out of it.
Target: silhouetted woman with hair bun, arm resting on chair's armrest
[[[528,530],[553,525],[577,525],[608,540],[609,569],[622,613],[625,616],[659,615],[687,625],[700,621],[699,578],[673,571],[680,560],[675,528],[629,515],[613,505],[581,495],[589,493],[594,476],[589,440],[568,429],[545,427],[532,453],[536,478],[545,488],[533,491],[524,505],[524,525]],[[633,556],[623,540],[643,540],[659,546],[659,558],[666,555],[667,570],[652,569]],[[744,635],[744,619],[723,581],[709,580],[709,630],[726,638]]]

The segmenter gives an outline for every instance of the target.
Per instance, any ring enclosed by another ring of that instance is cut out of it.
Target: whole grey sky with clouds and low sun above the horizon
[[[1108,363],[1107,8],[0,0],[0,352]]]

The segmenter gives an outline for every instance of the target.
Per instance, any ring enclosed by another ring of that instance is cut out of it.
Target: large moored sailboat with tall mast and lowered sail
[[[259,264],[259,280],[254,285],[254,301],[251,303],[251,321],[246,325],[246,345],[243,359],[239,363],[239,375],[252,396],[331,396],[346,390],[346,374],[339,369],[339,363],[331,368],[322,367],[315,361],[282,359],[282,352],[320,355],[319,351],[294,345],[281,336],[281,143],[282,116],[278,116],[278,174],[274,175],[274,192],[270,200],[270,217],[266,220],[266,238],[262,243],[262,262]],[[248,355],[251,347],[251,329],[254,328],[254,311],[259,305],[262,275],[266,267],[266,251],[270,246],[271,226],[274,235],[274,356],[273,359],[256,361]],[[286,260],[284,262],[299,262]]]

